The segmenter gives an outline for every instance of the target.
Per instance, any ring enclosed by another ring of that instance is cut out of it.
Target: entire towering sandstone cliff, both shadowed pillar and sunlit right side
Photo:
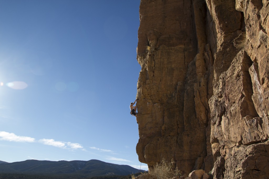
[[[140,1],[141,162],[269,176],[268,12],[267,0]]]

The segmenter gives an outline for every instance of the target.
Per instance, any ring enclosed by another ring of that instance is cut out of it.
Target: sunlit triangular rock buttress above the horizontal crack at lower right
[[[259,117],[252,100],[252,82],[248,71],[251,65],[246,52],[240,51],[231,67],[221,74],[215,94],[209,100],[211,143],[214,144],[213,155],[216,157],[229,155],[236,143],[251,144],[266,140],[263,119]]]

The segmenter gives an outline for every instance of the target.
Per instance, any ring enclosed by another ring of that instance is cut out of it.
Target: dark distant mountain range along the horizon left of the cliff
[[[69,178],[71,176],[79,178],[79,176],[126,176],[140,172],[144,172],[144,170],[135,169],[129,165],[106,163],[100,160],[62,160],[58,162],[47,160],[25,160],[23,162],[13,163],[0,161],[0,174],[43,174],[50,176],[68,174]]]

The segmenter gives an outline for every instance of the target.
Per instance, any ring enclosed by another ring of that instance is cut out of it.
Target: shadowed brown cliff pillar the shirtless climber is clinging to
[[[206,135],[213,58],[206,44],[205,5],[203,0],[140,2],[136,151],[149,166],[163,158],[186,173],[213,166]]]

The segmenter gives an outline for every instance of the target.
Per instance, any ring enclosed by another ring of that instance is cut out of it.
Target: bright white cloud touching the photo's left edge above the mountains
[[[35,139],[32,137],[19,136],[14,133],[8,133],[5,131],[0,131],[0,140],[14,142],[35,142]]]

